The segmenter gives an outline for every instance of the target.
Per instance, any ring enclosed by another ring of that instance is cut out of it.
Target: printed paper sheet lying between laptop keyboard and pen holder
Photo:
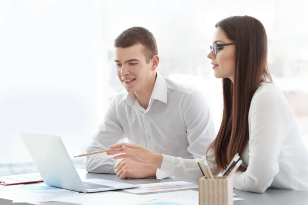
[[[183,189],[194,189],[198,188],[198,184],[186,182],[186,181],[172,181],[164,183],[146,183],[140,185],[140,187],[133,189],[126,189],[124,191],[138,194],[138,193],[150,193],[160,191],[172,191],[172,190],[183,190]]]

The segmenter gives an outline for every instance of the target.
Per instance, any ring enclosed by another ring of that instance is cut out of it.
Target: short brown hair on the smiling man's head
[[[149,63],[153,56],[158,55],[155,37],[149,30],[143,27],[126,29],[114,40],[115,48],[128,48],[137,44],[145,47],[146,63]]]

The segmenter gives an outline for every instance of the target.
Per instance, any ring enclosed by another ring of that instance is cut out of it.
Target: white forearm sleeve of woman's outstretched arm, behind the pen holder
[[[183,159],[163,154],[161,171],[172,176],[175,180],[198,181],[203,175],[198,166],[198,161],[206,160],[213,175],[219,174],[213,150],[209,150],[207,156],[201,159]],[[163,176],[157,175],[158,179]]]

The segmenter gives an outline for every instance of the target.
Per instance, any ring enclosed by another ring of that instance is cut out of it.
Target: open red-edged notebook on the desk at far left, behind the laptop
[[[24,183],[36,183],[43,182],[43,179],[39,173],[32,174],[20,174],[12,176],[0,177],[0,185],[22,185]]]

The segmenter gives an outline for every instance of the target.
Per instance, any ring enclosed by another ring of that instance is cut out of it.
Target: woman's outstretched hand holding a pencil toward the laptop
[[[120,143],[117,145],[112,145],[110,148],[111,149],[122,148],[121,150],[107,152],[108,155],[122,153],[120,155],[114,156],[113,159],[128,158],[130,160],[139,163],[145,163],[147,165],[154,166],[158,169],[161,168],[163,155],[151,152],[140,145],[130,144],[130,143]]]

